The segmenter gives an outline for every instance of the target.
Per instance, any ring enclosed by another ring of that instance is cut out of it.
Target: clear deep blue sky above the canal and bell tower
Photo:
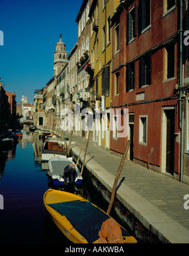
[[[34,91],[53,76],[55,44],[62,41],[71,51],[77,42],[76,17],[83,0],[1,1],[0,78],[6,91],[23,93],[33,103]]]

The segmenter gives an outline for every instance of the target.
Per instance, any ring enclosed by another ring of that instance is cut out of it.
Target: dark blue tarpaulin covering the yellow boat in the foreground
[[[98,240],[98,232],[101,230],[101,225],[110,217],[102,212],[98,207],[93,206],[88,201],[68,201],[49,204],[61,215],[66,216],[72,226],[79,232],[88,243],[93,243]],[[123,236],[130,234],[122,229]]]

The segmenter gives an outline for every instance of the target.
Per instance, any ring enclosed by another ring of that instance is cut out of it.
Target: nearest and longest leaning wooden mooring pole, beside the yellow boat
[[[130,147],[130,141],[127,142],[127,146],[126,146],[125,151],[124,151],[123,156],[122,156],[122,161],[120,163],[117,175],[116,175],[114,183],[113,183],[112,195],[111,195],[111,198],[110,198],[110,203],[109,203],[109,206],[108,206],[108,211],[106,212],[108,215],[110,215],[110,212],[112,210],[113,202],[114,202],[114,199],[115,199],[115,192],[116,192],[116,188],[117,188],[118,179],[119,179],[120,174],[122,172],[123,164],[124,164],[125,158],[127,156],[127,153],[129,151],[129,147]]]

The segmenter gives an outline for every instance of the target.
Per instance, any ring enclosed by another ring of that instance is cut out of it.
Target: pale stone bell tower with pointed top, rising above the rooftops
[[[54,52],[54,76],[57,76],[62,68],[67,63],[66,44],[62,42],[62,34],[60,33],[60,40],[56,44],[56,51]]]

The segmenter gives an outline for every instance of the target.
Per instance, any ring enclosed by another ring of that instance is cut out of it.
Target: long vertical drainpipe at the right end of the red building
[[[183,20],[182,20],[182,0],[179,1],[179,13],[178,13],[178,22],[179,22],[179,128],[181,131],[180,139],[180,182],[183,182]]]

